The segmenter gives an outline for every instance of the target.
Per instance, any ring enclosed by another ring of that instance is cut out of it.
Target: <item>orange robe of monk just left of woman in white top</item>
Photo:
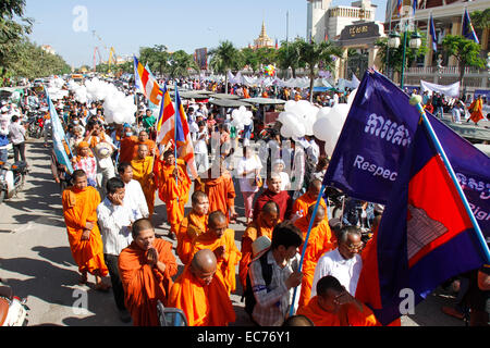
[[[195,182],[195,190],[206,192],[209,198],[209,211],[220,210],[230,221],[230,207],[235,204],[235,186],[230,173],[217,178],[204,178]]]

